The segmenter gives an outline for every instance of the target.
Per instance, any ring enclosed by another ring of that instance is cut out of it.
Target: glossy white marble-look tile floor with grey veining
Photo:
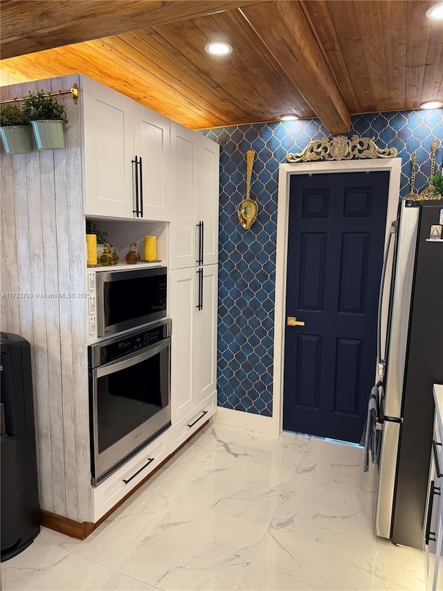
[[[212,423],[87,540],[42,529],[3,591],[422,590],[422,552],[372,534],[362,459]]]

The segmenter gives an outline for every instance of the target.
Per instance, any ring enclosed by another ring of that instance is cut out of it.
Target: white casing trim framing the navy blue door
[[[401,158],[374,160],[307,162],[297,164],[280,164],[278,170],[278,213],[277,213],[277,251],[275,261],[275,315],[274,315],[274,355],[273,355],[273,415],[269,423],[270,431],[275,435],[282,432],[283,423],[283,364],[284,364],[284,327],[285,299],[288,250],[289,220],[289,188],[292,175],[307,173],[318,175],[324,173],[360,173],[372,170],[387,170],[390,173],[388,190],[388,210],[386,213],[385,244],[389,234],[390,222],[397,218],[400,195]],[[391,253],[392,253],[391,249]],[[391,254],[392,259],[392,254]],[[392,264],[388,262],[388,270]],[[386,272],[385,297],[389,292],[390,273]],[[386,326],[385,321],[382,326]],[[383,334],[382,334],[383,342]],[[374,379],[377,368],[374,369]],[[369,395],[369,394],[368,394]]]

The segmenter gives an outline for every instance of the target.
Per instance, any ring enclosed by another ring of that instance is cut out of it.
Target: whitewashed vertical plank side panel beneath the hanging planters
[[[69,89],[79,76],[3,87]],[[31,345],[42,509],[91,520],[80,102],[62,96],[65,150],[1,153],[1,330]],[[75,294],[76,297],[42,297]],[[37,296],[37,297],[36,297]]]

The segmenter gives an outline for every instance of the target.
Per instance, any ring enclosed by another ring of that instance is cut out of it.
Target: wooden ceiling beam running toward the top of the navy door
[[[327,130],[348,134],[349,109],[300,3],[272,1],[241,12]]]

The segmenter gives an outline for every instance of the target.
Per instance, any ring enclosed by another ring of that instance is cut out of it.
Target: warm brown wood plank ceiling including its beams
[[[434,4],[3,0],[2,80],[79,72],[193,129],[295,113],[347,134],[351,114],[443,100]],[[205,53],[219,38],[233,52]]]

